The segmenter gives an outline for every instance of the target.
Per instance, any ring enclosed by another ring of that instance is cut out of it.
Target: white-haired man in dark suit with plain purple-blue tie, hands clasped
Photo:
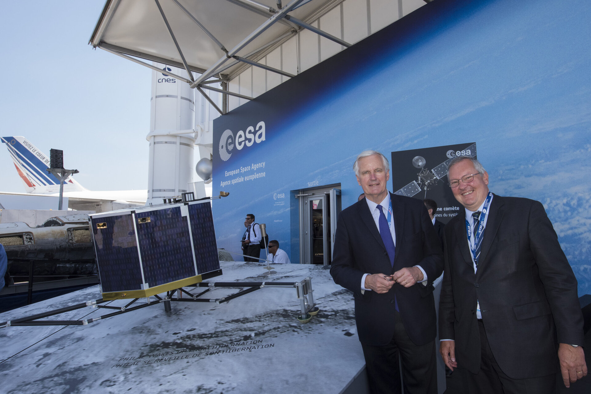
[[[431,283],[441,246],[421,200],[388,193],[388,159],[362,152],[353,165],[365,198],[339,215],[330,274],[353,292],[372,393],[434,394],[436,318]]]

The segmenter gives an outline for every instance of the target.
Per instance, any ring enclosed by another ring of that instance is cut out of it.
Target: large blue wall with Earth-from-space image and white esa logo
[[[544,204],[591,293],[590,20],[584,0],[437,0],[220,116],[219,247],[239,252],[254,213],[298,262],[294,191],[340,183],[345,208],[362,191],[362,150],[475,141],[491,190]]]

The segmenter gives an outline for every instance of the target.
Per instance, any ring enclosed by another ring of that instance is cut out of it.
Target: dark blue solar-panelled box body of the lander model
[[[103,298],[140,298],[221,275],[209,200],[90,215]]]

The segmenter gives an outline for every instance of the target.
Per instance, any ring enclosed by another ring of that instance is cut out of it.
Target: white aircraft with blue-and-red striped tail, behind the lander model
[[[9,194],[59,196],[59,179],[46,171],[50,164],[47,155],[23,136],[1,137],[0,141],[6,144],[12,161],[14,161],[14,167],[27,191],[27,193]],[[147,200],[147,190],[91,191],[70,176],[64,181],[64,197],[68,197],[68,207],[71,209],[99,213],[144,206]]]

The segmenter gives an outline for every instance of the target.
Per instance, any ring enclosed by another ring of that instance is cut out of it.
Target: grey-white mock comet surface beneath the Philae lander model
[[[264,266],[243,262],[222,262],[222,270],[207,282],[311,276],[320,312],[298,323],[296,289],[262,288],[219,305],[172,302],[165,312],[160,303],[88,325],[0,328],[1,392],[339,393],[363,368],[352,295],[334,284],[328,270],[290,264],[265,275]],[[193,294],[203,290],[190,288]],[[237,291],[215,288],[202,297]],[[99,286],[92,286],[4,312],[0,322],[98,298]],[[46,319],[109,312],[87,307]]]

